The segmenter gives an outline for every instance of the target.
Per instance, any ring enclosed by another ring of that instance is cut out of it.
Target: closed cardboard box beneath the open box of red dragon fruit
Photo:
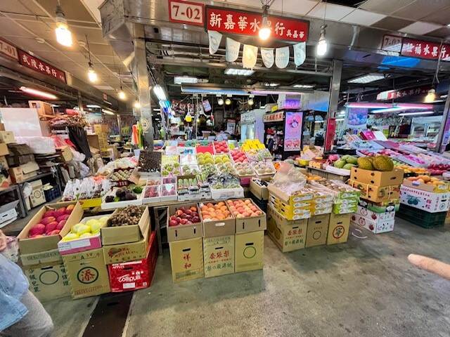
[[[30,283],[30,291],[39,300],[53,300],[70,295],[68,275],[62,261],[27,265],[24,272]]]

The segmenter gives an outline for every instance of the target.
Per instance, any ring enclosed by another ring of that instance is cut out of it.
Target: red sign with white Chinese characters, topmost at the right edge
[[[439,48],[440,47],[440,48]],[[436,42],[420,41],[416,39],[403,39],[401,55],[412,58],[426,58],[428,60],[450,61],[450,45]]]

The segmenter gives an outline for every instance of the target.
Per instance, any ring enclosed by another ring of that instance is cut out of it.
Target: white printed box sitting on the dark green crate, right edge
[[[401,185],[400,203],[430,213],[445,212],[450,209],[450,192],[435,193]]]

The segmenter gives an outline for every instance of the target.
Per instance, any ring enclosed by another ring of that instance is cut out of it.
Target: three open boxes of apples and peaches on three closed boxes
[[[251,199],[180,204],[167,214],[173,282],[262,269],[266,213]]]

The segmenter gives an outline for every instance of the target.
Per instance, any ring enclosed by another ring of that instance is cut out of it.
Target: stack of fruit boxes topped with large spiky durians
[[[349,185],[361,190],[361,200],[352,224],[378,234],[394,230],[403,170],[394,169],[387,156],[361,157],[358,168],[352,168]]]

